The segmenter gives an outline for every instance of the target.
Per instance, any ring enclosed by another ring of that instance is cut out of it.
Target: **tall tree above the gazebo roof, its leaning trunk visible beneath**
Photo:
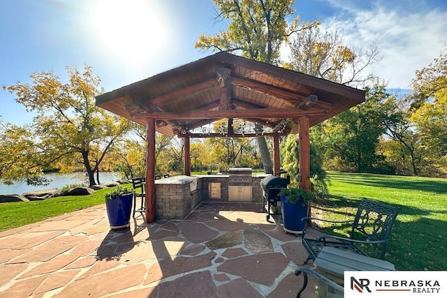
[[[288,24],[293,15],[293,0],[213,0],[219,10],[216,20],[231,20],[226,31],[215,36],[200,35],[195,47],[212,52],[239,52],[242,57],[278,65],[279,48],[291,34],[312,27],[298,25],[299,17]],[[272,158],[264,137],[258,137],[259,151],[266,173],[272,173]]]

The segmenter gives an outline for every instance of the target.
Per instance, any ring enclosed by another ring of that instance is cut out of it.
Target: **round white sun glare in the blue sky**
[[[161,54],[166,28],[154,2],[99,1],[94,10],[94,27],[105,52],[128,64]]]

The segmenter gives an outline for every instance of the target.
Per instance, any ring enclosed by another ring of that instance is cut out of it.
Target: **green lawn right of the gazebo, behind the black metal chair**
[[[315,214],[353,218],[362,198],[393,204],[400,212],[386,260],[399,270],[447,269],[447,179],[336,172],[330,172],[329,178],[331,198],[315,206]],[[325,228],[325,232],[346,234],[348,230]]]

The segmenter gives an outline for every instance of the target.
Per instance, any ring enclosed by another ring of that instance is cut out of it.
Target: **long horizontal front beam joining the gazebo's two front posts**
[[[190,112],[144,112],[132,115],[135,119],[153,118],[162,120],[174,119],[222,119],[222,118],[296,118],[303,115],[323,115],[323,109],[298,110],[290,109],[241,109],[227,111],[197,110]]]

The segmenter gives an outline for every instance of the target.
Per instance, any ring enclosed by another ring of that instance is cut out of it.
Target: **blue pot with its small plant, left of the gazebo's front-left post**
[[[117,186],[105,195],[105,209],[111,229],[129,227],[131,221],[133,189]]]

